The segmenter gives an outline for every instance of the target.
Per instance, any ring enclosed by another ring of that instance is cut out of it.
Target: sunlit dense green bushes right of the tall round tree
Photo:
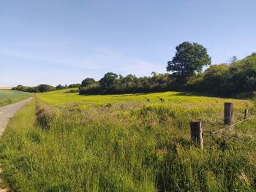
[[[256,89],[256,53],[230,64],[212,65],[197,82],[188,85],[194,90],[222,96],[252,93]]]

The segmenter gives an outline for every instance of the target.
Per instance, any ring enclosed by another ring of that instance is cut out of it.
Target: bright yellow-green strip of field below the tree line
[[[83,96],[78,93],[68,93],[70,89],[60,91],[51,91],[46,93],[37,93],[40,100],[49,104],[115,104],[115,103],[175,103],[175,104],[215,104],[224,101],[233,101],[236,103],[246,103],[245,100],[220,99],[216,97],[197,96],[193,93],[183,93],[167,91],[162,93],[135,93],[135,94],[119,94],[119,95],[94,95]],[[249,103],[249,102],[247,102]]]

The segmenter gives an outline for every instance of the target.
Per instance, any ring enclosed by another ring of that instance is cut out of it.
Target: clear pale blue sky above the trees
[[[166,72],[182,42],[212,64],[256,52],[255,0],[0,0],[0,86]]]

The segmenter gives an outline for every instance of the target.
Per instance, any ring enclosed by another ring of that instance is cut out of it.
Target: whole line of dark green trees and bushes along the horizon
[[[204,67],[208,67],[203,71]],[[144,93],[155,91],[199,91],[219,96],[252,94],[256,89],[256,53],[238,60],[236,56],[225,64],[211,65],[206,47],[183,42],[176,47],[176,54],[167,62],[167,72],[150,77],[126,77],[106,73],[99,81],[87,77],[80,84],[38,85],[13,88],[18,91],[45,92],[62,88],[78,88],[80,94]]]

